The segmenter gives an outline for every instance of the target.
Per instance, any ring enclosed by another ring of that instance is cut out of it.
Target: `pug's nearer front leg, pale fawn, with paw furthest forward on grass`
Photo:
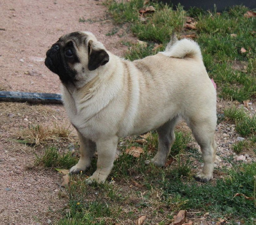
[[[99,140],[96,142],[98,151],[97,169],[86,180],[87,183],[92,183],[93,181],[97,183],[105,182],[114,165],[117,144],[118,137],[116,136],[108,140]]]

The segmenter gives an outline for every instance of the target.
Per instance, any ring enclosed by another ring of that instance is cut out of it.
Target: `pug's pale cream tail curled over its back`
[[[173,58],[193,58],[196,61],[202,61],[202,54],[199,45],[189,39],[182,39],[178,41],[177,38],[173,37],[164,52],[161,53]]]

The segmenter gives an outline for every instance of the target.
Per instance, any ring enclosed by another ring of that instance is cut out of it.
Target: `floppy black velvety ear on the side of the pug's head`
[[[109,55],[104,49],[93,48],[93,41],[90,40],[88,43],[88,69],[96,70],[99,66],[103,66],[109,61]]]

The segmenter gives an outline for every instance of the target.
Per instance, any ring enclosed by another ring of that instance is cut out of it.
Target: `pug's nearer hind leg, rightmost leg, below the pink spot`
[[[204,166],[201,171],[197,173],[195,179],[199,182],[208,182],[213,178],[214,160],[217,150],[217,145],[214,140],[216,123],[214,120],[200,120],[191,126],[193,135],[200,145]]]

